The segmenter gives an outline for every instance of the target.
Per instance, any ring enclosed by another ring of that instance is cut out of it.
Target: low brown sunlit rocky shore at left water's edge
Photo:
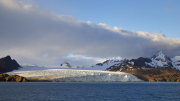
[[[0,73],[0,82],[28,82],[25,77]]]

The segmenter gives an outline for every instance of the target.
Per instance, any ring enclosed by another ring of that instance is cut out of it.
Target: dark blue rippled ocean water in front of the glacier
[[[180,101],[180,83],[0,83],[0,101]]]

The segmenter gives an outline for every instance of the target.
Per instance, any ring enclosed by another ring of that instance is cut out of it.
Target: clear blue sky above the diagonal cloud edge
[[[180,38],[179,0],[24,0],[77,20]]]

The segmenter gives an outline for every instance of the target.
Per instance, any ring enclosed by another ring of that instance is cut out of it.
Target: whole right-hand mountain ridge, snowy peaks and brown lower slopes
[[[169,58],[159,51],[151,58],[131,59],[110,66],[106,71],[130,73],[144,81],[180,82],[180,56]]]

